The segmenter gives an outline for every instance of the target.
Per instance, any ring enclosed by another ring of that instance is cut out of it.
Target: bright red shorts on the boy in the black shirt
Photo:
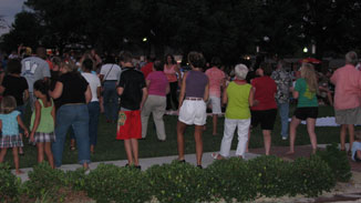
[[[141,111],[120,111],[116,140],[142,139]]]

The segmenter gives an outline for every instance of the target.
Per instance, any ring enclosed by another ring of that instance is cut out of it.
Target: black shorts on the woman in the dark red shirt
[[[274,130],[277,109],[250,111],[250,125],[256,128],[260,123],[261,130]]]

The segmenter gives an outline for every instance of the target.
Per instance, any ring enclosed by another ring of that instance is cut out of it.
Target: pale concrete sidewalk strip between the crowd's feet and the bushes
[[[230,151],[230,156],[235,156],[235,152],[236,151]],[[206,152],[203,154],[203,159],[202,159],[202,165],[203,168],[208,166],[212,162],[214,162],[214,159],[212,158],[212,153],[214,152]],[[246,153],[245,159],[246,160],[250,160],[254,158],[259,156],[259,154],[254,154],[254,153]],[[145,158],[145,159],[140,159],[140,164],[142,166],[142,170],[146,170],[148,168],[151,168],[152,165],[155,164],[164,164],[164,163],[171,163],[173,160],[176,160],[178,156],[177,155],[171,155],[171,156],[161,156],[161,158]],[[196,154],[186,154],[185,155],[185,160],[188,163],[192,163],[194,165],[196,165]],[[90,170],[94,170],[97,168],[99,164],[101,163],[106,163],[106,164],[114,164],[117,166],[124,166],[127,163],[127,160],[120,160],[120,161],[104,161],[104,162],[93,162],[91,163]],[[76,169],[82,168],[80,164],[64,164],[62,165],[60,169],[63,171],[75,171]],[[32,171],[32,168],[25,168],[25,169],[21,169],[21,171],[23,171],[24,173],[21,175],[17,175],[19,177],[21,177],[21,180],[24,182],[27,181],[28,177],[28,173],[30,171]],[[14,170],[12,170],[12,173],[14,173]]]

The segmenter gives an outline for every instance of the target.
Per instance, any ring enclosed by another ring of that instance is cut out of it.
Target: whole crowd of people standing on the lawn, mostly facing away
[[[269,155],[277,114],[281,121],[280,136],[289,139],[288,154],[295,153],[297,128],[302,120],[307,122],[312,153],[316,153],[314,126],[320,98],[334,106],[336,122],[341,125],[341,150],[345,151],[349,132],[349,154],[352,160],[361,161],[361,133],[354,131],[354,125],[361,124],[361,72],[355,68],[358,57],[353,51],[345,54],[344,67],[327,74],[329,81],[321,80],[314,67],[307,62],[293,70],[292,75],[286,71],[282,60],[275,70],[266,62],[254,67],[255,71],[239,63],[229,73],[223,71],[218,57],[207,63],[196,51],[186,55],[188,69],[182,69],[172,54],[166,54],[164,60],[147,57],[141,65],[134,63],[135,58],[128,51],[103,58],[95,50],[62,58],[49,58],[44,48],[38,48],[35,54],[27,51],[22,57],[12,54],[4,67],[6,73],[0,77],[0,163],[7,150],[12,149],[17,174],[22,173],[19,154],[24,153],[23,135],[37,145],[38,162],[47,156],[52,168],[60,168],[70,132],[71,150],[78,149],[79,163],[89,169],[102,112],[107,123],[116,124],[115,139],[124,141],[126,166],[136,169],[141,169],[138,140],[147,135],[149,115],[153,114],[158,141],[165,142],[163,116],[171,109],[178,112],[178,161],[185,162],[184,132],[187,125],[194,125],[200,169],[207,108],[212,109],[213,135],[217,135],[218,116],[226,106],[220,151],[212,154],[216,160],[229,156],[236,129],[236,155],[245,158],[252,129],[258,125],[265,154]],[[329,83],[336,87],[334,91],[328,88]],[[295,100],[297,108],[289,124],[289,105]],[[29,130],[23,124],[27,104],[31,109]]]

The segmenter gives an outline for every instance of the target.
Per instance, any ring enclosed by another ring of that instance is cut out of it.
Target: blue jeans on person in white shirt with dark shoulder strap
[[[118,99],[116,93],[116,81],[105,81],[103,89],[105,118],[110,121],[116,121]]]

